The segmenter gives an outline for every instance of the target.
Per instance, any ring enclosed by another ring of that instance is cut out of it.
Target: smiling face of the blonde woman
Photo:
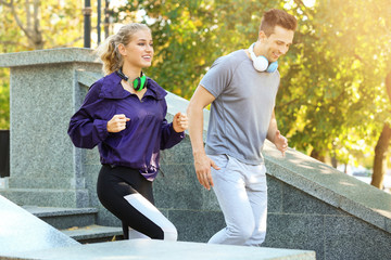
[[[130,67],[150,67],[153,58],[152,35],[148,29],[141,29],[131,36],[130,42],[119,48],[124,63]]]

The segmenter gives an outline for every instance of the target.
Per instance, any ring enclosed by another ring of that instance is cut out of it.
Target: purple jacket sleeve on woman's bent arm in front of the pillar
[[[81,107],[71,118],[67,133],[76,147],[93,148],[109,135],[108,120],[94,116],[102,103],[99,93],[99,83],[92,84]]]

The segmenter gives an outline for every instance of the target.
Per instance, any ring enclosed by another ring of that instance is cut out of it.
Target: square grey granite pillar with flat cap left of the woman
[[[0,55],[0,67],[11,68],[10,178],[0,193],[14,203],[89,206],[80,151],[66,131],[85,94],[78,77],[101,74],[94,60],[79,48]]]

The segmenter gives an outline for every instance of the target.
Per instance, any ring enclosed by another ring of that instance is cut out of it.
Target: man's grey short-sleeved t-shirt
[[[215,96],[205,151],[263,162],[262,150],[279,86],[279,73],[255,70],[244,50],[217,58],[200,84]]]

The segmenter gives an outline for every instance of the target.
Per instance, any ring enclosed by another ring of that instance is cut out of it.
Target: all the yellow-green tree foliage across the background
[[[15,2],[23,14],[23,1]],[[40,2],[45,48],[80,46],[83,3]],[[124,2],[114,10],[116,22],[139,22],[141,15],[153,32],[155,57],[147,74],[186,99],[218,56],[256,40],[264,11],[279,8],[295,15],[294,44],[279,61],[276,105],[279,128],[292,147],[335,156],[341,162],[368,160],[382,123],[391,122],[384,89],[391,70],[389,0],[317,0],[311,8],[301,0]],[[5,6],[0,5],[0,14],[2,52],[31,50]],[[0,109],[7,113],[3,103]]]

